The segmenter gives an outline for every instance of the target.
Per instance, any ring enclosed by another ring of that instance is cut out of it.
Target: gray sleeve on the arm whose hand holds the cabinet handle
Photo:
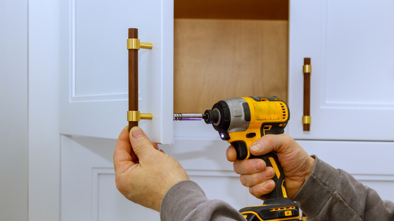
[[[245,220],[238,210],[221,200],[209,200],[199,185],[190,180],[176,183],[160,206],[162,221]]]

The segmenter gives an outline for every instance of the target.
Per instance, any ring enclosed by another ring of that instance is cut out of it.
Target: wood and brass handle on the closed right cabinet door
[[[311,58],[304,58],[304,116],[303,116],[303,124],[304,131],[310,131],[311,129]]]

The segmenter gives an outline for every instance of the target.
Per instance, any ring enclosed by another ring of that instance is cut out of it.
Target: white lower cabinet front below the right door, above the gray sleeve
[[[308,154],[337,169],[353,175],[364,185],[376,190],[380,197],[394,201],[387,191],[394,184],[394,142],[367,141],[297,141]]]

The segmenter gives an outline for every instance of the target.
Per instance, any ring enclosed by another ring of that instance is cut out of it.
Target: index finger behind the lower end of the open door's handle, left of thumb
[[[123,173],[135,164],[131,156],[132,150],[128,134],[128,126],[126,126],[123,128],[122,132],[120,132],[118,141],[116,142],[114,150],[115,173]]]

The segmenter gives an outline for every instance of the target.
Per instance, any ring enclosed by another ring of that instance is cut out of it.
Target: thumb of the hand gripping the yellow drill
[[[271,151],[278,152],[283,150],[291,140],[292,138],[287,134],[267,134],[253,143],[249,147],[249,151],[253,155],[258,156],[267,154]]]

